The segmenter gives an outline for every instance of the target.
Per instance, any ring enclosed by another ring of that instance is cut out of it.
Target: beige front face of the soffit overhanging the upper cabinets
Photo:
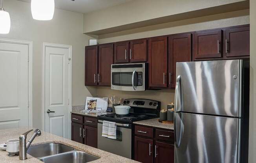
[[[84,33],[244,0],[131,0],[84,14]],[[238,6],[239,7],[239,6]]]

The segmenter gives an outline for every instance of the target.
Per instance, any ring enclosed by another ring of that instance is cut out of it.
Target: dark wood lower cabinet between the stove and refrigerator
[[[135,125],[134,129],[138,129],[138,127],[144,126]],[[147,135],[141,136],[135,132],[134,159],[142,163],[174,163],[173,130],[152,127],[151,129],[154,129],[154,138]],[[169,138],[163,139],[159,134],[169,136]]]

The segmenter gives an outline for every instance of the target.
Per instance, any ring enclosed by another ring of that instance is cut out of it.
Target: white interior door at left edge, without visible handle
[[[28,45],[0,42],[0,129],[28,127]]]

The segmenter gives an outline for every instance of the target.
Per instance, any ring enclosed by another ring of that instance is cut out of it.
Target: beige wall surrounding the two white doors
[[[55,10],[51,21],[33,20],[30,4],[5,0],[4,8],[11,16],[11,31],[1,38],[33,41],[33,126],[41,128],[42,42],[73,46],[72,102],[83,105],[84,97],[96,94],[95,88],[84,86],[84,46],[90,37],[82,34],[83,14]]]

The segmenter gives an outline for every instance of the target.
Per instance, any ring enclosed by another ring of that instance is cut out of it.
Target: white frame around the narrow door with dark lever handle
[[[72,45],[62,45],[55,43],[42,44],[42,130],[45,130],[45,49],[46,47],[64,48],[69,50],[69,58],[72,58]],[[72,61],[72,60],[71,60]],[[69,111],[72,111],[72,62],[69,62],[69,83],[68,83],[68,98],[69,98]],[[70,114],[69,112],[69,114]],[[69,129],[71,129],[71,114],[69,115]],[[71,134],[69,135],[71,137]]]

